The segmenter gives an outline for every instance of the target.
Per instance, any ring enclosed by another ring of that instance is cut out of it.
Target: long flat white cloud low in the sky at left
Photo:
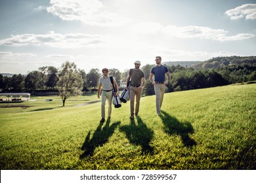
[[[51,46],[57,48],[95,48],[104,44],[101,35],[81,33],[60,34],[50,31],[47,34],[11,35],[10,38],[0,40],[0,45],[5,46]]]

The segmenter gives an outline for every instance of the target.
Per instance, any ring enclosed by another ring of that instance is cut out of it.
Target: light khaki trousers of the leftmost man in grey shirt
[[[112,97],[113,97],[112,91],[110,91],[110,92],[102,91],[102,93],[101,93],[101,118],[105,118],[105,105],[106,105],[107,99],[108,99],[108,117],[111,116]]]

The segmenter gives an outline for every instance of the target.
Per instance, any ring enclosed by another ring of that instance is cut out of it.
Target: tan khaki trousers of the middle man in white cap
[[[141,93],[142,93],[142,90],[139,90],[138,87],[130,86],[129,95],[130,95],[131,116],[134,115],[135,96],[136,96],[135,114],[139,113]]]

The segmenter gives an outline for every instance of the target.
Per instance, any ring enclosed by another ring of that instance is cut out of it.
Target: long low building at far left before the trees
[[[0,93],[0,102],[29,101],[30,93]]]

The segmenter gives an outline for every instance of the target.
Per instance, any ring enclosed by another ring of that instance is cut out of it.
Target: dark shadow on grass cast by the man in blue
[[[160,118],[163,121],[163,125],[165,125],[165,132],[168,135],[180,135],[184,146],[196,146],[196,141],[189,137],[189,134],[194,133],[194,128],[189,122],[181,123],[177,118],[163,110],[161,110]]]

